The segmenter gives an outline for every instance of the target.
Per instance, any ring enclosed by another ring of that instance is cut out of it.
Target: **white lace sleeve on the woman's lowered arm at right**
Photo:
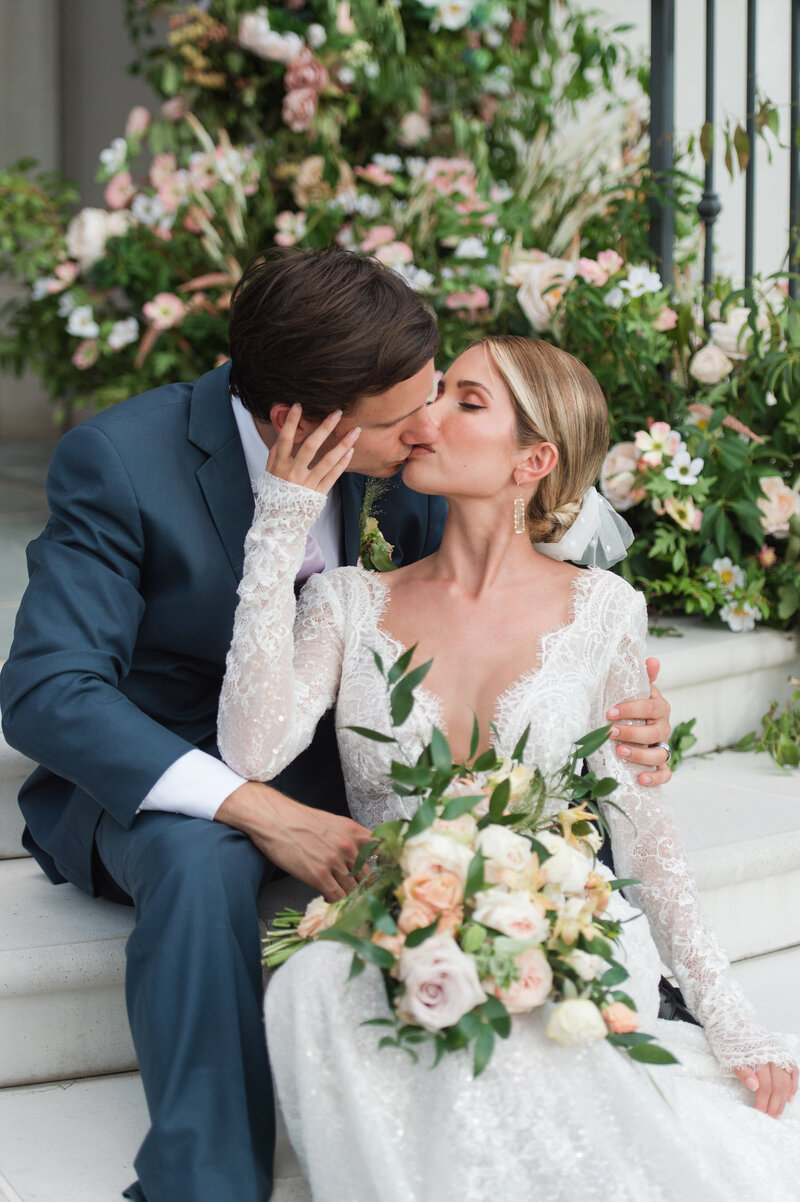
[[[619,609],[619,638],[605,682],[603,714],[621,700],[649,692],[644,597],[627,589],[615,594],[609,600]],[[635,764],[623,764],[608,743],[590,758],[590,766],[599,775],[621,781],[611,799],[627,819],[611,807],[607,809],[617,876],[640,881],[626,889],[626,895],[647,916],[658,952],[671,966],[717,1060],[724,1069],[769,1061],[789,1067],[788,1047],[762,1027],[730,976],[728,958],[703,911],[664,791],[639,785]]]

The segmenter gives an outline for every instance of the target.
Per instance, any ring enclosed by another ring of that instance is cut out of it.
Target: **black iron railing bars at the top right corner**
[[[800,251],[800,0],[790,0],[790,121],[789,121],[789,269],[798,272]],[[756,137],[757,137],[757,89],[756,89],[756,37],[758,29],[758,0],[747,0],[747,61],[745,79],[746,133],[750,142],[750,159],[745,168],[745,278],[753,275],[756,264]],[[650,165],[663,191],[663,198],[652,203],[650,245],[657,256],[662,278],[673,274],[674,224],[669,204],[669,177],[674,161],[674,109],[675,109],[675,0],[650,0],[650,102],[651,142]],[[705,0],[705,129],[715,123],[716,79],[716,0]],[[698,213],[705,232],[703,280],[709,286],[714,280],[714,225],[722,204],[715,191],[715,156],[718,138],[706,145],[706,163],[703,195]],[[798,296],[796,276],[789,281],[789,292]]]

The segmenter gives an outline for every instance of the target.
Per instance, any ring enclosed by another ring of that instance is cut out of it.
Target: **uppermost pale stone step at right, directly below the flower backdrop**
[[[700,618],[667,621],[680,637],[651,635],[647,654],[661,660],[658,686],[673,707],[673,726],[697,719],[689,755],[733,746],[760,728],[772,701],[786,703],[792,695],[789,677],[800,677],[800,633],[734,632]]]

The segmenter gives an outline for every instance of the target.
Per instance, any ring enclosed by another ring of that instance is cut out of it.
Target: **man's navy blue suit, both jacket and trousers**
[[[256,911],[271,865],[222,823],[137,817],[184,752],[217,754],[253,510],[228,375],[135,397],[59,442],[0,679],[6,738],[41,764],[19,798],[25,846],[54,882],[137,908],[126,990],[153,1127],[131,1196],[157,1202],[264,1202],[271,1189]],[[364,480],[341,489],[352,564]],[[398,563],[419,559],[443,505],[398,483],[381,524]],[[273,784],[342,810],[330,720]]]

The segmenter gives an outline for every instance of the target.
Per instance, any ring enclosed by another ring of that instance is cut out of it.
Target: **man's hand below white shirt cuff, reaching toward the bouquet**
[[[351,876],[372,832],[352,819],[300,805],[269,785],[249,780],[219,808],[215,821],[243,831],[277,868],[338,902],[356,887]]]

